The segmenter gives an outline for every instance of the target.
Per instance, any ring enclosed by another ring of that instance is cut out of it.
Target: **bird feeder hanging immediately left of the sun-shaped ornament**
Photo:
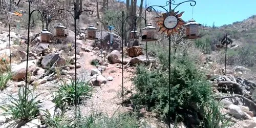
[[[153,27],[151,24],[148,24],[145,28],[142,29],[142,40],[141,41],[155,41],[157,28]]]

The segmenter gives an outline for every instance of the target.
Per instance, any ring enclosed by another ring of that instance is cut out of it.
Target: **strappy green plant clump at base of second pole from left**
[[[77,97],[78,103],[82,100],[82,97],[90,97],[92,94],[92,87],[87,83],[82,81],[77,81],[76,84],[77,91],[75,92],[75,82],[71,80],[71,83],[68,84],[66,81],[63,81],[60,84],[57,95],[54,96],[54,102],[58,108],[62,111],[65,111],[67,105],[72,105],[75,103]]]

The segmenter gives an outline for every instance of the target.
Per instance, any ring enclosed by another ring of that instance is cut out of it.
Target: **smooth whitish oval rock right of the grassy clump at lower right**
[[[230,104],[228,106],[228,113],[236,117],[237,119],[242,119],[245,116],[244,112],[238,105]]]

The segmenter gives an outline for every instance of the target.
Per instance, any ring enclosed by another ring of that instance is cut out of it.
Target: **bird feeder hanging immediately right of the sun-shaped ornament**
[[[186,37],[184,38],[195,39],[201,37],[198,33],[198,29],[199,26],[201,26],[201,24],[196,23],[196,21],[193,18],[189,20],[189,22],[184,26],[186,28]]]

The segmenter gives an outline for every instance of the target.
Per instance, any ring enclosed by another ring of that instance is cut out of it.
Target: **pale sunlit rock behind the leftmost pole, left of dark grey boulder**
[[[13,66],[11,69],[12,79],[15,79],[15,80],[24,79],[26,77],[26,66],[27,66],[27,61],[24,61],[17,66]],[[29,60],[28,72],[32,72],[35,69],[36,69],[36,60]]]

